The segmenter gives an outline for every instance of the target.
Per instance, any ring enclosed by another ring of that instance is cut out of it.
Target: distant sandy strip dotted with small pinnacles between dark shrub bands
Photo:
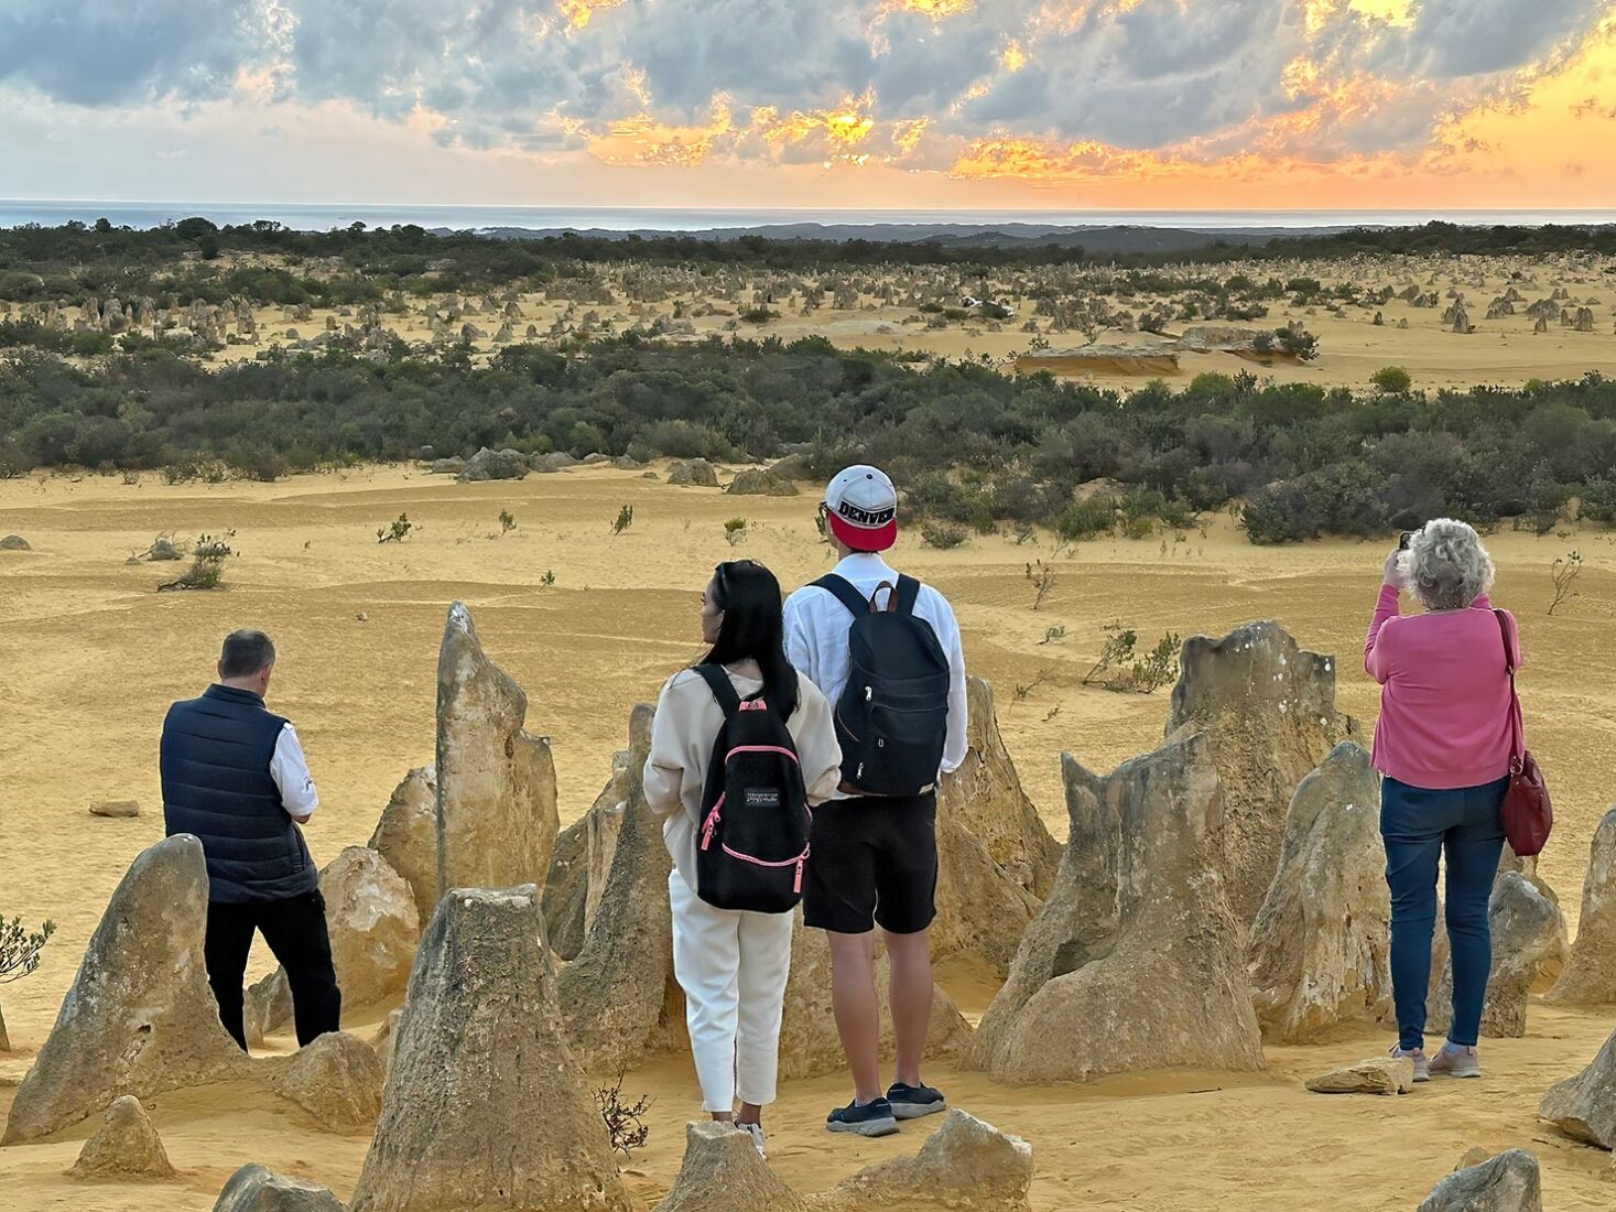
[[[289,268],[318,278],[347,267],[236,254],[217,268]],[[1479,383],[1521,386],[1590,370],[1616,375],[1616,259],[1597,254],[1239,260],[1164,265],[1147,276],[1107,265],[1013,268],[987,278],[945,267],[771,273],[604,263],[562,271],[577,276],[559,276],[541,291],[394,292],[380,309],[270,307],[238,299],[212,315],[205,307],[202,315],[189,309],[166,314],[160,330],[218,343],[207,356],[213,364],[259,357],[276,344],[315,349],[338,336],[399,336],[420,347],[464,338],[488,357],[507,343],[575,346],[635,331],[672,341],[816,336],[844,349],[987,360],[1005,370],[1028,354],[1079,354],[1079,365],[1055,367],[1057,373],[1112,388],[1152,378],[1178,385],[1199,373],[1241,370],[1364,388],[1387,365],[1406,368],[1416,388],[1433,391]],[[1254,284],[1270,280],[1286,288],[1311,280],[1320,289],[1262,296],[1265,314],[1238,314],[1243,304],[1259,302]],[[1214,284],[1225,288],[1225,299]],[[992,320],[979,307],[963,307],[966,297],[995,301],[1013,315]],[[65,328],[100,328],[107,302],[92,299],[95,314],[60,304],[21,304],[18,314]],[[760,309],[769,318],[747,318]],[[11,305],[0,304],[0,317],[8,312]],[[129,325],[154,331],[155,309],[124,299],[123,314]],[[1230,351],[1217,335],[1210,344],[1194,338],[1193,330],[1209,325],[1243,328],[1248,338],[1256,330],[1299,325],[1317,336],[1320,352],[1317,360],[1299,362]]]

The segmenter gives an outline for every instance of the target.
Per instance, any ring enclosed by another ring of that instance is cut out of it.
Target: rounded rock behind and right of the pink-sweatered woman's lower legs
[[[1487,902],[1493,934],[1493,966],[1482,1005],[1482,1034],[1519,1039],[1526,1034],[1527,994],[1545,960],[1559,947],[1559,907],[1519,871],[1501,871]],[[1438,926],[1446,941],[1446,931]],[[1446,945],[1437,949],[1440,958]],[[1446,953],[1441,976],[1425,1005],[1425,1031],[1445,1031],[1453,1018],[1453,955]]]

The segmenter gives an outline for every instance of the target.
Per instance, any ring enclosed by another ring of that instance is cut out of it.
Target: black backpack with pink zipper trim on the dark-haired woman
[[[785,721],[763,698],[740,700],[719,666],[696,672],[724,708],[701,789],[696,895],[708,905],[790,913],[808,863],[808,792]]]

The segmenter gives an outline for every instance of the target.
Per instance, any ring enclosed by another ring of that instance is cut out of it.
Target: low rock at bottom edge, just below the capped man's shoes
[[[950,1110],[920,1154],[866,1167],[810,1206],[823,1212],[1028,1212],[1031,1189],[1033,1146]]]

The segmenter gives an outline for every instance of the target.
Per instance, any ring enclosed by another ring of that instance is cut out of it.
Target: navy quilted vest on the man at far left
[[[320,873],[270,776],[286,721],[249,690],[210,685],[163,721],[163,823],[196,834],[208,900],[284,900],[314,892]]]

